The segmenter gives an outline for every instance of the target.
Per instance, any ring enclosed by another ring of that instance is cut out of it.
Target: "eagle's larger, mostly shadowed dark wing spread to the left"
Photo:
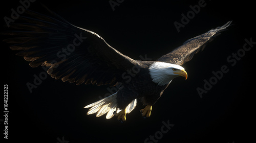
[[[30,66],[50,66],[48,74],[76,84],[115,85],[121,74],[137,62],[124,56],[98,34],[73,26],[50,11],[47,16],[26,10],[23,22],[11,23],[2,34],[11,35],[16,55],[30,61]],[[15,37],[13,37],[15,36]]]

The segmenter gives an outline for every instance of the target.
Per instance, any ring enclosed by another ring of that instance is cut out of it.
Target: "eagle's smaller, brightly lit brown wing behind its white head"
[[[230,25],[231,21],[228,21],[224,26],[212,29],[202,35],[186,40],[183,45],[177,47],[172,52],[160,57],[158,61],[168,62],[173,64],[182,65],[185,62],[191,60],[194,54],[202,51],[207,42],[212,40],[212,36]]]

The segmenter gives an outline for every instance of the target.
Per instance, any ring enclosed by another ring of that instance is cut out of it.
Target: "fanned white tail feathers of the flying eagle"
[[[114,112],[116,113],[120,112],[121,110],[117,108],[117,101],[116,101],[116,95],[117,92],[112,94],[109,97],[106,97],[104,99],[101,99],[97,102],[94,102],[90,105],[87,105],[84,108],[90,108],[87,112],[88,115],[94,114],[97,112],[96,117],[102,116],[103,114],[106,114],[106,118],[112,118],[114,116]],[[129,114],[137,105],[137,99],[133,100],[129,105],[126,106],[126,111]]]

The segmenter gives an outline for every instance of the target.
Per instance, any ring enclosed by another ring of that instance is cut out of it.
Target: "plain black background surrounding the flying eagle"
[[[158,142],[237,143],[248,142],[252,137],[255,46],[234,66],[227,62],[227,57],[243,48],[245,38],[256,41],[252,32],[254,4],[205,1],[206,6],[177,32],[174,22],[181,22],[181,14],[186,15],[191,10],[189,6],[198,5],[199,1],[125,0],[113,11],[109,1],[37,0],[29,9],[42,12],[40,2],[73,25],[96,32],[116,50],[137,60],[145,54],[156,60],[185,40],[233,21],[227,31],[183,65],[188,79],[177,78],[169,85],[153,106],[150,118],[141,117],[139,110],[143,106],[138,103],[126,115],[124,123],[119,123],[116,117],[106,120],[105,116],[87,115],[88,109],[83,109],[108,93],[108,86],[77,86],[48,75],[30,93],[26,83],[33,83],[33,76],[44,69],[30,67],[29,62],[15,56],[17,52],[1,42],[2,85],[8,84],[8,140],[2,133],[4,123],[0,125],[1,139],[5,142],[59,142],[62,137],[70,143],[144,142],[160,131],[163,121],[175,126]],[[3,17],[10,17],[11,9],[19,5],[18,1],[1,4],[2,25],[5,25]],[[204,79],[209,81],[212,71],[220,70],[223,65],[228,67],[228,73],[200,98],[197,87],[203,88]],[[3,108],[4,103],[1,105]]]

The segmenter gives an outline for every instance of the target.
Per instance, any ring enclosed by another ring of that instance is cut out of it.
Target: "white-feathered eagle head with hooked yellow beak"
[[[158,85],[169,84],[174,78],[179,76],[187,79],[187,72],[182,66],[177,64],[155,62],[150,66],[149,70],[152,81]]]

